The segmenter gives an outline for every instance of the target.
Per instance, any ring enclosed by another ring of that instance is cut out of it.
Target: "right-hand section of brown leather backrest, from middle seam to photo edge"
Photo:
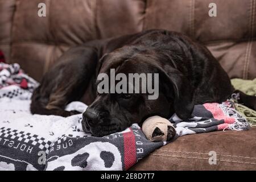
[[[216,3],[217,16],[208,15]],[[144,29],[163,28],[184,32],[205,44],[230,78],[256,77],[255,1],[148,0]]]

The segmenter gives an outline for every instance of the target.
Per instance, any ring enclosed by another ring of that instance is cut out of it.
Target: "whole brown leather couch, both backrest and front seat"
[[[38,4],[46,3],[46,17]],[[210,17],[209,3],[217,5]],[[0,0],[0,49],[40,80],[69,47],[151,28],[205,44],[230,78],[256,77],[256,0]],[[132,169],[256,169],[256,129],[187,135]],[[217,164],[209,164],[216,151]]]

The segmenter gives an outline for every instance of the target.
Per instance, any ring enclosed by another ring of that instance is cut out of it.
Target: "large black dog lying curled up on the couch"
[[[109,75],[110,68],[126,75],[158,73],[159,97],[98,94],[97,75]],[[149,30],[69,49],[35,90],[31,113],[67,117],[77,111],[65,111],[65,105],[85,102],[90,106],[83,114],[83,129],[101,137],[151,115],[189,118],[195,104],[222,102],[233,92],[228,75],[206,47],[177,32]],[[241,102],[256,109],[256,97],[236,92]]]

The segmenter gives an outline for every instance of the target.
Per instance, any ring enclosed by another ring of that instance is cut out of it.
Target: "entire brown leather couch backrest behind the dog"
[[[199,40],[231,78],[256,77],[256,0],[0,0],[0,49],[36,80],[69,47],[151,28]]]

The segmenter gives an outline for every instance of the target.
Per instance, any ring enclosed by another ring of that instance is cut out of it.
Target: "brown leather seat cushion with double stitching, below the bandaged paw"
[[[255,170],[255,138],[256,127],[185,135],[152,152],[130,170]],[[209,164],[210,151],[216,152],[217,164]]]

